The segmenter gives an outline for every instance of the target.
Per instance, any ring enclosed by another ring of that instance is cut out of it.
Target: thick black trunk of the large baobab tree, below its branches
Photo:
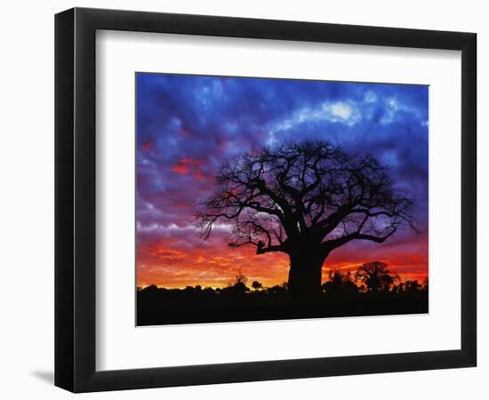
[[[290,255],[288,291],[296,299],[317,299],[321,296],[321,270],[325,257],[308,249]]]

